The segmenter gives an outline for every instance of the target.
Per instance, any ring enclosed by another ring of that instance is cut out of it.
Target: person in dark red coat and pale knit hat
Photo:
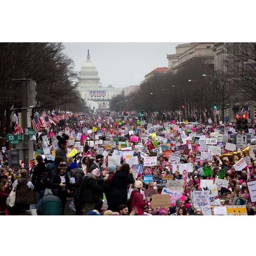
[[[140,193],[140,189],[143,187],[143,183],[140,180],[135,180],[134,190],[131,192],[131,202],[130,207],[131,210],[137,208],[138,215],[144,214],[144,208],[148,206],[150,198],[146,198],[143,200],[143,195]]]

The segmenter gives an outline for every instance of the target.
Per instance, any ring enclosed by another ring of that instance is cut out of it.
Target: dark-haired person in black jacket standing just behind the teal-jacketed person
[[[35,159],[37,160],[38,165],[33,170],[31,181],[35,187],[36,204],[38,204],[39,200],[44,197],[44,191],[46,188],[44,180],[46,166],[41,155],[38,155]]]

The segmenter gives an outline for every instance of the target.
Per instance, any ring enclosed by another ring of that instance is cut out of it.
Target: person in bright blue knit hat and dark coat
[[[75,179],[74,183],[70,183],[70,188],[74,192],[74,204],[76,207],[76,215],[81,215],[81,204],[80,204],[80,185],[81,185],[81,180],[84,177],[84,172],[82,171],[81,168],[78,168],[77,163],[71,163],[70,164],[70,170],[72,173],[72,177]]]

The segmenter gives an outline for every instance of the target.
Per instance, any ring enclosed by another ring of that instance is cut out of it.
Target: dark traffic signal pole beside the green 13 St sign
[[[25,73],[22,73],[22,78],[25,79]],[[25,169],[28,171],[29,176],[29,135],[28,135],[28,120],[27,120],[27,82],[21,81],[22,90],[22,124],[24,128],[24,142],[23,142],[23,157]]]

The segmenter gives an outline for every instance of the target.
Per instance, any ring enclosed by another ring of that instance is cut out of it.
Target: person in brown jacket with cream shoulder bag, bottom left
[[[21,177],[13,183],[13,187],[16,186],[16,197],[14,206],[8,207],[10,215],[20,215],[24,211],[29,210],[30,204],[32,204],[31,191],[34,189],[34,185],[27,176],[27,170],[20,170]],[[11,210],[9,210],[11,208]]]

